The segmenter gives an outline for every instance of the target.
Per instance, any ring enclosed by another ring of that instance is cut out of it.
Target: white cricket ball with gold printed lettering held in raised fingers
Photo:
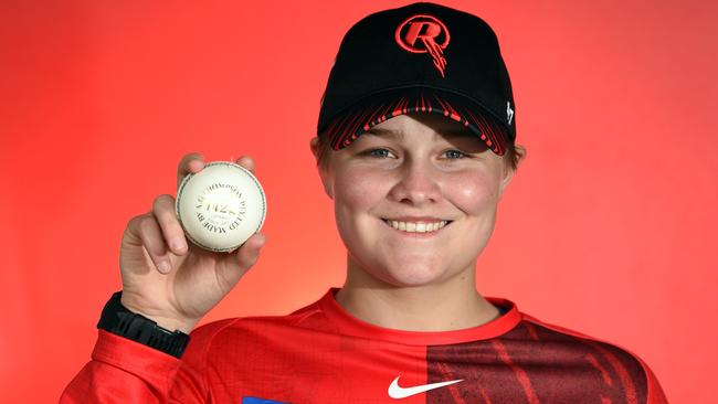
[[[175,209],[192,243],[231,252],[262,228],[266,198],[250,170],[231,161],[213,161],[184,177]]]

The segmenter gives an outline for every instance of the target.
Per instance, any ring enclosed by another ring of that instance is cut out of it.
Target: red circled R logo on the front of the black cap
[[[433,15],[418,14],[408,18],[399,24],[394,39],[399,46],[412,53],[431,54],[434,66],[444,77],[446,60],[444,59],[444,49],[448,45],[448,30],[443,22]],[[421,39],[421,42],[416,40]],[[441,43],[439,43],[441,41]]]

